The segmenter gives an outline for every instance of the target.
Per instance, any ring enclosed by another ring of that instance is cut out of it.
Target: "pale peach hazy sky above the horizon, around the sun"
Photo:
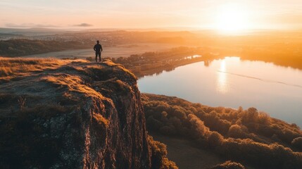
[[[255,28],[302,25],[302,0],[0,0],[0,27],[212,27],[226,4]]]

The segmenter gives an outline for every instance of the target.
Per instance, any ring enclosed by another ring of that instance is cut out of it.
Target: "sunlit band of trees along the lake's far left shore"
[[[197,61],[212,61],[218,56],[211,54],[207,48],[180,46],[168,51],[149,51],[144,54],[134,54],[129,57],[111,58],[130,69],[137,77],[170,71],[180,65]],[[188,56],[202,57],[188,57]]]

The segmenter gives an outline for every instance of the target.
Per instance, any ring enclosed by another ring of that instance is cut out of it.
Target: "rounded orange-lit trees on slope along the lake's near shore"
[[[192,104],[175,97],[142,96],[150,132],[189,138],[228,160],[256,168],[301,168],[302,132],[256,108]]]

